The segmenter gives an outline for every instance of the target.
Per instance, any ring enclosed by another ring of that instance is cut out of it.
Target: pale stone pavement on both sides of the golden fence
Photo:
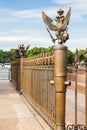
[[[66,125],[74,124],[75,92],[66,92]],[[85,95],[78,93],[78,123],[85,120]],[[0,80],[0,130],[52,130],[11,83]]]

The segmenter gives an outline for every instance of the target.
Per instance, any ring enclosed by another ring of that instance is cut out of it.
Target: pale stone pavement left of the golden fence
[[[51,130],[9,81],[0,80],[0,130]]]

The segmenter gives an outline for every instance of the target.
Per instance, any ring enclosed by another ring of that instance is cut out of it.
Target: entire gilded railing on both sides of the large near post
[[[21,90],[34,109],[56,129],[54,54],[43,54],[33,58],[11,63],[11,80],[16,89]],[[67,68],[67,79],[71,80],[68,89],[75,91],[74,122],[67,124],[66,129],[87,130],[87,69]],[[85,123],[78,123],[78,92],[85,94]],[[74,96],[74,95],[73,95]],[[67,106],[68,107],[68,106]],[[66,115],[67,116],[67,115]],[[73,118],[73,117],[72,117]],[[67,121],[67,120],[66,120]]]

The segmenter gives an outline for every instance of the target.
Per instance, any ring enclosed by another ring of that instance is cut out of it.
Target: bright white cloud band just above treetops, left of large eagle
[[[50,38],[44,37],[0,37],[0,49],[3,50],[10,50],[11,48],[15,49],[18,45],[24,44],[25,46],[30,45],[32,47],[48,47],[51,46],[53,43],[51,42]]]

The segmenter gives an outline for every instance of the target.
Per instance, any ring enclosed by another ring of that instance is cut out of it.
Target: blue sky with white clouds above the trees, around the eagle
[[[74,51],[87,48],[87,0],[0,0],[0,49],[16,49],[20,44],[30,48],[54,45],[42,11],[54,21],[57,10],[62,8],[65,16],[69,7],[69,40],[65,45]],[[51,33],[55,38],[55,32]]]

